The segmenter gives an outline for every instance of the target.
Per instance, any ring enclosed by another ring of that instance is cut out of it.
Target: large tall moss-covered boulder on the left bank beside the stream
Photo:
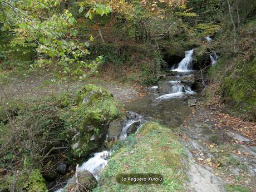
[[[104,142],[111,121],[121,119],[121,104],[105,88],[83,86],[77,93],[73,116],[79,119],[77,134],[72,139],[72,154],[86,156]]]

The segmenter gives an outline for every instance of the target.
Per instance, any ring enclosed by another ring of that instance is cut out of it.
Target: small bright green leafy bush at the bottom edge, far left
[[[45,184],[45,179],[40,173],[40,170],[32,170],[28,180],[23,186],[23,191],[28,192],[46,192],[48,191]]]

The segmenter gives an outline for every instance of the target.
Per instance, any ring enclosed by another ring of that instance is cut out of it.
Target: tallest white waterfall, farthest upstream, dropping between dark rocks
[[[177,71],[177,72],[191,71],[191,68],[192,68],[191,64],[192,64],[192,61],[193,61],[193,52],[194,52],[194,50],[185,51],[185,57],[179,63],[178,68],[175,68],[172,71]]]

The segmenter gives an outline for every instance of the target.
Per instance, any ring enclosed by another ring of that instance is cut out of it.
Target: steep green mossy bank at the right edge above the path
[[[249,58],[223,56],[208,72],[213,82],[219,85],[215,93],[221,94],[229,111],[235,111],[250,120],[256,119],[255,63],[254,55]],[[209,88],[207,92],[211,96]]]

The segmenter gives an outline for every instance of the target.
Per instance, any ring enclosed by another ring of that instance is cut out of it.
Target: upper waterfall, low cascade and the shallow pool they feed
[[[152,86],[149,88],[151,94],[125,104],[126,110],[145,115],[147,119],[157,120],[168,127],[181,125],[191,113],[187,97],[196,97],[196,92],[188,84],[181,82],[184,76],[194,73],[191,70],[192,61],[193,50],[186,51],[179,66],[171,70],[178,72],[176,76],[171,76],[175,80],[164,80],[170,84],[171,92],[159,93],[159,86]]]

